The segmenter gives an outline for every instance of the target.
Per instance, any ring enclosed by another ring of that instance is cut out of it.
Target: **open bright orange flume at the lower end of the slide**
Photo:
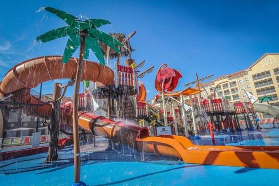
[[[167,144],[179,153],[185,163],[279,169],[278,146],[202,146],[183,136],[157,136],[136,139],[143,143]],[[157,151],[167,154],[167,148]]]

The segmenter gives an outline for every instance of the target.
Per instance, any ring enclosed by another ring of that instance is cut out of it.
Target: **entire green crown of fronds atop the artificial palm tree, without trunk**
[[[63,54],[63,63],[67,63],[69,58],[71,58],[75,51],[79,48],[81,31],[87,32],[84,50],[85,59],[89,57],[89,50],[91,49],[100,61],[100,63],[102,65],[105,64],[103,53],[98,41],[108,45],[116,52],[120,52],[118,47],[122,47],[122,43],[120,43],[118,40],[114,39],[110,35],[96,29],[102,25],[110,24],[110,21],[104,19],[88,19],[85,21],[81,21],[77,17],[58,9],[44,7],[44,10],[55,14],[68,24],[68,26],[50,30],[49,32],[36,38],[37,41],[41,40],[42,42],[48,42],[57,38],[69,36]]]

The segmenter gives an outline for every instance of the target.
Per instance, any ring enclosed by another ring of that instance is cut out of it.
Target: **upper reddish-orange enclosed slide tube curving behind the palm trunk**
[[[30,95],[30,88],[40,83],[55,79],[74,79],[77,71],[77,59],[71,58],[68,63],[62,63],[62,56],[42,56],[32,58],[14,66],[4,76],[0,84],[0,96],[13,94],[19,102],[39,104],[37,97]],[[114,78],[113,71],[92,61],[84,60],[81,80],[98,81],[109,84]],[[30,115],[36,112],[37,116],[50,117],[51,104],[40,107],[26,108],[25,113]]]

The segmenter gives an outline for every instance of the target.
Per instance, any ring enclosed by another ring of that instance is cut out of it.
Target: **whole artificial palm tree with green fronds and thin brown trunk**
[[[73,103],[73,136],[74,136],[74,182],[80,182],[80,143],[79,143],[79,128],[78,128],[78,94],[80,89],[81,71],[83,66],[83,59],[89,57],[89,49],[91,49],[100,63],[105,64],[103,53],[99,46],[99,42],[108,45],[110,48],[119,52],[122,44],[109,36],[106,33],[97,30],[98,27],[104,24],[110,24],[108,20],[104,19],[87,19],[85,21],[79,20],[77,17],[57,10],[51,7],[45,7],[44,10],[55,14],[57,17],[63,19],[68,25],[60,28],[50,30],[49,32],[39,36],[36,40],[48,42],[57,38],[68,36],[62,61],[67,63],[72,57],[73,53],[80,47],[79,60],[77,65],[77,73],[75,79],[74,103]],[[117,46],[118,45],[118,46]]]

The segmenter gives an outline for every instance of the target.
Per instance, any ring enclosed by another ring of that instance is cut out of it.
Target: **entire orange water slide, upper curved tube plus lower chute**
[[[44,56],[33,58],[16,65],[4,77],[0,84],[2,97],[14,95],[18,102],[42,104],[42,101],[30,95],[30,88],[48,80],[74,79],[77,59],[63,65],[61,56]],[[82,80],[110,83],[114,78],[113,71],[91,61],[85,61]],[[62,125],[72,126],[71,102],[61,106]],[[23,109],[27,114],[49,117],[51,105]],[[79,126],[89,132],[124,144],[138,151],[166,155],[182,159],[185,163],[272,168],[279,169],[278,146],[200,146],[194,145],[183,136],[161,135],[150,136],[148,128],[126,125],[103,116],[79,113]]]

